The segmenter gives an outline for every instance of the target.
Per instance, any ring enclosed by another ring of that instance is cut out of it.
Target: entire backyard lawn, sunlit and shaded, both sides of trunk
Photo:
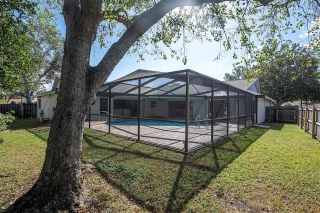
[[[0,206],[33,184],[44,158],[48,128],[19,129],[16,121],[0,144],[0,173],[13,174],[0,177]],[[88,211],[319,212],[319,142],[299,126],[268,124],[188,155],[85,129],[86,194],[95,200]],[[27,156],[11,157],[20,146]]]

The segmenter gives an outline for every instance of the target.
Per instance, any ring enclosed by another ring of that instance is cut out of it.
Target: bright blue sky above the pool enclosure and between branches
[[[58,26],[62,33],[65,33],[65,25],[63,18],[58,19]],[[287,37],[294,42],[299,42],[305,35],[305,30],[297,30],[294,34],[287,34]],[[113,40],[116,40],[115,37]],[[232,58],[233,50],[228,52],[220,52],[220,43],[216,41],[200,43],[194,40],[192,43],[187,44],[187,63],[184,65],[181,59],[171,58],[168,52],[168,59],[154,59],[151,55],[144,55],[145,60],[137,62],[137,57],[134,55],[124,55],[120,62],[115,66],[114,70],[107,78],[111,81],[122,77],[136,69],[148,69],[154,71],[175,71],[181,69],[192,69],[207,76],[213,77],[218,80],[224,80],[223,76],[226,72],[231,72],[233,63],[237,60]],[[222,49],[223,50],[223,49]],[[169,50],[168,50],[169,51]],[[93,55],[94,52],[94,55]],[[92,46],[92,54],[90,57],[90,64],[96,65],[105,54],[106,49],[100,49],[98,43]],[[219,60],[214,58],[221,54]],[[240,56],[240,54],[238,54]]]

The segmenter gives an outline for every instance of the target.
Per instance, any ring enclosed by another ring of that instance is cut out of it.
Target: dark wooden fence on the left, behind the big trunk
[[[22,104],[0,104],[0,113],[15,111],[15,116],[19,118],[37,117],[36,103],[22,103]]]

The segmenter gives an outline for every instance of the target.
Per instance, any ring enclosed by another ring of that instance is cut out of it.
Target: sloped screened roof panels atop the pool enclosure
[[[188,79],[186,73],[189,75]],[[103,88],[101,87],[101,89],[99,89],[98,95],[105,96],[106,92],[109,91],[109,85],[111,85],[111,93],[113,95],[137,95],[139,80],[140,94],[143,96],[185,96],[185,85],[187,81],[189,83],[188,94],[190,96],[209,97],[211,95],[212,80],[214,80],[214,96],[227,95],[228,85],[239,88],[230,83],[227,84],[226,82],[211,78],[190,69],[172,72],[137,69],[121,78],[106,82],[102,86]],[[238,83],[240,84],[240,82]],[[247,87],[244,88],[241,86],[239,89],[254,95],[259,94],[255,91],[247,90],[246,88]],[[229,95],[232,95],[232,91],[229,91]]]

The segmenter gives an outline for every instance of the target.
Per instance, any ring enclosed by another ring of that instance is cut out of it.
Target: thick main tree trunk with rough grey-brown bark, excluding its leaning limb
[[[6,212],[55,212],[83,202],[84,119],[99,86],[88,78],[93,71],[89,55],[101,19],[101,1],[83,2],[94,6],[65,2],[63,7],[67,31],[61,82],[40,176]]]

